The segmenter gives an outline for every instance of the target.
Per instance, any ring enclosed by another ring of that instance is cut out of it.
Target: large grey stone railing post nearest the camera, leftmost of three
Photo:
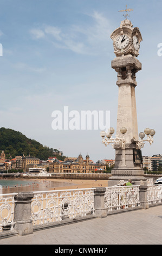
[[[33,233],[33,221],[31,220],[31,199],[33,192],[20,192],[15,196],[14,222],[19,235]]]

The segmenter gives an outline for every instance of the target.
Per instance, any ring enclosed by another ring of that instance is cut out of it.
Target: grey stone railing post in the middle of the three
[[[104,205],[106,187],[97,187],[94,190],[94,209],[95,215],[99,218],[107,217],[107,210]]]

